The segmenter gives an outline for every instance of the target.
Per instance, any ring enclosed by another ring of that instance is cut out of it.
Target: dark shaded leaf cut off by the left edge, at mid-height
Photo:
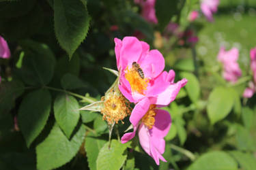
[[[16,98],[24,92],[22,82],[13,80],[12,82],[1,82],[0,84],[0,118],[3,114],[8,114],[10,109],[14,107]]]

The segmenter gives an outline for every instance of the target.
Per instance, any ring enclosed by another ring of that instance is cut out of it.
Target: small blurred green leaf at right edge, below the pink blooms
[[[253,110],[249,107],[242,107],[242,122],[246,129],[251,129],[253,126]]]

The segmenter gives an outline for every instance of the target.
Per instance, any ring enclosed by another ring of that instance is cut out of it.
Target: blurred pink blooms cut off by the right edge
[[[255,93],[256,84],[256,47],[251,49],[251,70],[253,71],[253,82],[248,83],[248,87],[244,90],[243,97],[251,98]]]

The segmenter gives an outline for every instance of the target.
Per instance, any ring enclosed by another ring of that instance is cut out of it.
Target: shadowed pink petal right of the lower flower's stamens
[[[158,138],[163,138],[169,132],[171,127],[171,116],[169,112],[163,109],[155,109],[155,124],[150,129],[150,135]]]

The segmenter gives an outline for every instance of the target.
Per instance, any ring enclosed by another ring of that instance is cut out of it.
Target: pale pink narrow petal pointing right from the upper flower
[[[184,78],[175,84],[169,85],[169,87],[165,91],[161,92],[158,95],[155,104],[156,105],[169,105],[169,103],[171,103],[171,101],[173,101],[175,99],[175,97],[177,96],[177,94],[180,92],[180,88],[185,86],[187,82],[188,82],[188,80],[186,80],[186,78]]]

